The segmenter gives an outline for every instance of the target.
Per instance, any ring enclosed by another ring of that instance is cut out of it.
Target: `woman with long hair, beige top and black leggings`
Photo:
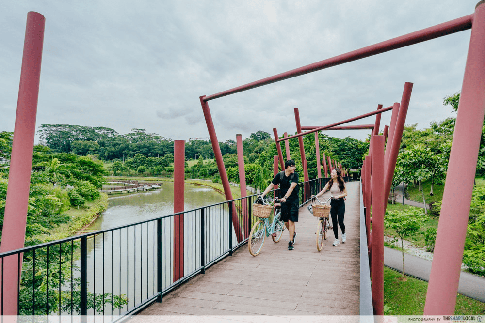
[[[326,191],[330,190],[332,199],[330,200],[330,215],[332,217],[333,231],[335,235],[335,241],[332,246],[338,246],[340,244],[339,240],[339,224],[340,230],[342,231],[342,243],[347,241],[347,236],[345,234],[345,224],[343,224],[343,218],[345,215],[345,197],[347,196],[347,188],[345,187],[345,181],[342,177],[342,171],[338,168],[332,170],[330,173],[330,181],[323,187],[323,189],[317,193],[317,197],[323,195]]]

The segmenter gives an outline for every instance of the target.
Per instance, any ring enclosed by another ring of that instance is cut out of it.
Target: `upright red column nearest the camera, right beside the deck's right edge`
[[[372,305],[384,315],[384,136],[372,138]]]

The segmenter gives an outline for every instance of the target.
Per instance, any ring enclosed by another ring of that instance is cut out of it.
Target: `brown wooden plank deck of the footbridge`
[[[267,239],[256,257],[243,246],[126,322],[302,322],[359,315],[358,188],[347,183],[346,243],[332,246],[330,231],[318,252],[317,220],[304,206],[294,250],[288,250],[288,231],[277,244]]]

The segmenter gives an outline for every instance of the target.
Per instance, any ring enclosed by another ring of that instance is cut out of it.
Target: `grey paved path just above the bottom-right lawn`
[[[403,255],[401,251],[384,248],[384,264],[403,272]],[[431,261],[404,253],[404,273],[429,281]],[[485,303],[485,278],[462,271],[460,273],[458,292]]]

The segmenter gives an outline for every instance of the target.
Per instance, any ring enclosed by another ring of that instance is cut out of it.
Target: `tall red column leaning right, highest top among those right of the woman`
[[[389,198],[392,176],[394,175],[394,169],[396,168],[397,155],[399,154],[399,148],[401,147],[401,138],[403,137],[404,123],[406,122],[407,108],[409,107],[409,100],[411,99],[411,92],[413,90],[413,83],[406,82],[404,84],[403,96],[401,98],[401,104],[399,105],[399,115],[396,120],[396,127],[394,129],[394,134],[392,135],[392,146],[388,154],[388,165],[385,167],[385,191],[384,199],[386,203],[384,204],[384,211],[388,205],[387,200]]]

